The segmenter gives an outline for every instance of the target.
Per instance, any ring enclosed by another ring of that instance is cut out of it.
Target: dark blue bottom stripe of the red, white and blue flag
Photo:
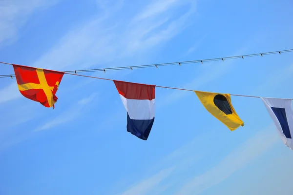
[[[127,132],[130,132],[132,135],[138,138],[147,140],[154,120],[155,117],[149,120],[131,119],[127,113]]]

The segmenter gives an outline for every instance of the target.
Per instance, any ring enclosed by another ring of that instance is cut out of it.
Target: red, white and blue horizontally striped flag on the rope
[[[147,140],[155,119],[155,85],[114,83],[127,111],[127,132]]]

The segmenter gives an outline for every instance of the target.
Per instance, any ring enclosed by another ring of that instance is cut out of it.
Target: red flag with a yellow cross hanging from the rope
[[[15,64],[13,68],[21,94],[54,109],[58,99],[55,94],[64,73]]]

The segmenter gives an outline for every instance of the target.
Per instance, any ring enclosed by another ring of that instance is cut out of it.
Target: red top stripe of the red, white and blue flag
[[[148,99],[155,98],[155,85],[138,84],[113,80],[120,95],[127,99]]]

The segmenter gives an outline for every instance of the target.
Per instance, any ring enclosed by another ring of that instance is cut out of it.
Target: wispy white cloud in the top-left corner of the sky
[[[58,0],[1,0],[0,1],[0,45],[18,38],[18,32],[31,15],[49,7]]]

